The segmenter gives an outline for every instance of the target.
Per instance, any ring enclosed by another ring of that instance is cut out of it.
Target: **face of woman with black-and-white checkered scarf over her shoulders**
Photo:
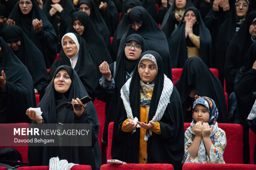
[[[144,82],[151,82],[156,77],[157,68],[153,61],[143,59],[139,65],[139,75]]]

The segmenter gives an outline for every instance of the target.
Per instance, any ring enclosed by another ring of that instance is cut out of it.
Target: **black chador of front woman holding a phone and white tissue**
[[[61,69],[65,69],[68,72],[71,78],[71,85],[67,92],[59,93],[54,88],[54,81],[50,83],[49,88],[38,105],[43,112],[43,123],[58,123],[57,113],[59,109],[57,109],[57,100],[60,98],[60,95],[63,95],[65,99],[62,102],[71,102],[72,99],[82,98],[88,95],[76,71],[71,67],[66,65],[58,67],[55,70],[54,77]],[[62,146],[61,150],[59,147],[29,147],[28,160],[30,165],[49,165],[50,158],[59,156],[60,159],[66,159],[68,162],[90,165],[92,169],[99,170],[101,165],[100,147],[98,143],[100,124],[92,101],[87,103],[86,109],[80,117],[77,117],[73,110],[64,108],[63,112],[61,113],[65,115],[63,123],[90,123],[92,125],[92,147]],[[33,121],[33,123],[36,122]]]

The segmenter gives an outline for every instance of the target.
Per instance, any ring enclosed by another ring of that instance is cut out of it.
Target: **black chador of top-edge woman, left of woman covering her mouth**
[[[178,21],[175,19],[175,13],[173,13],[176,8],[175,1],[176,0],[173,1],[173,5],[166,12],[163,22],[162,22],[162,25],[161,25],[161,30],[163,30],[163,32],[165,33],[167,38],[172,35],[173,30],[175,29],[175,24],[176,23],[177,23],[177,25],[179,24]],[[187,11],[187,9],[189,7],[194,7],[194,5],[192,4],[191,0],[186,0],[186,1],[187,1],[187,3],[185,6],[185,9]]]

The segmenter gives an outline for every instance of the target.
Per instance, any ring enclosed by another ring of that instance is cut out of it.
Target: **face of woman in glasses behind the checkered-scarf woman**
[[[130,45],[133,45],[130,49]],[[137,60],[140,57],[142,52],[141,45],[134,40],[126,43],[126,47],[124,48],[124,53],[126,54],[126,58],[129,60]]]

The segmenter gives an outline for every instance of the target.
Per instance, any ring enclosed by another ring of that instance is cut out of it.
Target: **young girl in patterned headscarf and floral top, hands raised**
[[[211,98],[194,101],[193,121],[185,132],[183,163],[225,163],[227,139],[225,131],[218,128],[217,118],[218,109]]]

